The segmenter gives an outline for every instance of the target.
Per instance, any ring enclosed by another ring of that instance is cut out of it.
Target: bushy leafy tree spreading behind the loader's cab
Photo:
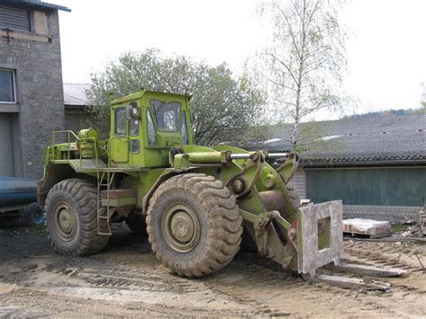
[[[198,145],[241,142],[259,119],[263,102],[250,78],[236,77],[226,64],[209,66],[148,49],[123,53],[92,76],[87,95],[93,105],[89,110],[93,126],[103,133],[109,131],[109,93],[120,97],[140,88],[191,94],[194,142]]]

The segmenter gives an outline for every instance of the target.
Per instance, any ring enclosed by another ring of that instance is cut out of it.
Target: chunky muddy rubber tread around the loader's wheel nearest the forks
[[[192,266],[188,262],[171,261],[161,250],[161,245],[157,244],[161,240],[159,238],[161,234],[155,234],[152,226],[155,203],[162,199],[165,191],[172,189],[191,191],[200,200],[202,207],[209,212],[209,227],[212,232],[207,238],[206,250],[197,256],[199,262],[191,263]],[[148,240],[156,258],[163,263],[164,267],[186,277],[200,277],[224,268],[238,252],[243,234],[243,217],[239,212],[235,196],[222,182],[203,173],[173,176],[160,185],[149,202],[146,225]]]

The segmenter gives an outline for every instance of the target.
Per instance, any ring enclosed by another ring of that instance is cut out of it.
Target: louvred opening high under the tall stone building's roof
[[[31,13],[29,10],[0,5],[0,29],[31,32]]]

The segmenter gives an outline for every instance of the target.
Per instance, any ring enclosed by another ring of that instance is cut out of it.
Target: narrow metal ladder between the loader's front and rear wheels
[[[101,177],[98,177],[97,187],[97,219],[98,219],[98,234],[112,235],[111,233],[111,216],[115,208],[110,208],[110,191],[111,184],[114,180],[115,173],[110,173],[110,170],[103,172]],[[106,178],[106,182],[105,181]],[[102,187],[106,188],[106,206],[102,205],[101,191]]]

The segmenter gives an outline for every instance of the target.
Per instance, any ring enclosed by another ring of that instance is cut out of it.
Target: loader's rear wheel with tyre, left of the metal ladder
[[[98,253],[108,235],[98,234],[96,188],[92,182],[69,179],[58,182],[46,199],[46,231],[55,252],[84,256]]]

